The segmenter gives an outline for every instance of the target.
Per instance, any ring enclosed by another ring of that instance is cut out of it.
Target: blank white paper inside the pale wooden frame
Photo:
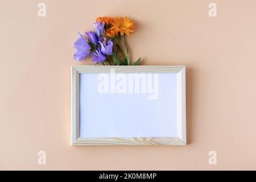
[[[98,74],[80,73],[80,137],[177,137],[177,73],[158,73],[156,100],[99,93]]]

